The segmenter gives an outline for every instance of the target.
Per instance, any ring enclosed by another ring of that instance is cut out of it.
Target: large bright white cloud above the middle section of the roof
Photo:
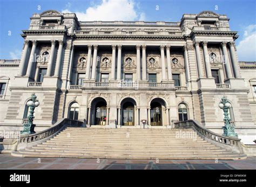
[[[77,18],[83,21],[114,21],[114,20],[145,20],[145,13],[135,10],[133,0],[103,0],[101,4],[90,6],[85,12],[75,12]],[[70,13],[69,9],[62,10]]]

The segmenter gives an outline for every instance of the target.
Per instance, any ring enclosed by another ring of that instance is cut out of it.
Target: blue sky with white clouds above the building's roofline
[[[53,9],[75,12],[79,20],[145,20],[179,22],[184,13],[211,10],[230,18],[239,61],[256,61],[255,0],[2,0],[0,2],[0,59],[19,59],[32,13]]]

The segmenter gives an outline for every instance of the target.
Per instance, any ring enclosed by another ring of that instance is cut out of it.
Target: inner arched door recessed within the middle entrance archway
[[[123,125],[134,125],[134,105],[131,102],[124,103],[123,106]]]

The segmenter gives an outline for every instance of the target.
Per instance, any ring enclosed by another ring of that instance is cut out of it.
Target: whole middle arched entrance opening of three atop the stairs
[[[121,102],[121,124],[122,126],[134,126],[136,102],[132,98],[126,98]]]

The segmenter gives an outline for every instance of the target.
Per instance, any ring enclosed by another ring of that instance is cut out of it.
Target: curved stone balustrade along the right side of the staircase
[[[222,147],[227,150],[231,150],[235,153],[244,154],[244,150],[241,146],[241,139],[230,136],[223,136],[203,127],[196,120],[186,120],[174,122],[175,128],[192,128],[197,134],[204,140],[215,144],[216,146]]]

